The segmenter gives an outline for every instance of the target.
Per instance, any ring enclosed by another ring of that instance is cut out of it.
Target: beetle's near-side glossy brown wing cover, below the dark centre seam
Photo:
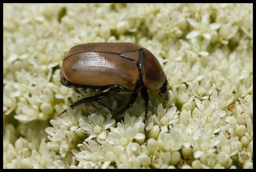
[[[121,85],[135,88],[140,71],[128,59],[108,52],[83,52],[63,61],[65,78],[83,85]],[[125,69],[125,72],[124,72]]]

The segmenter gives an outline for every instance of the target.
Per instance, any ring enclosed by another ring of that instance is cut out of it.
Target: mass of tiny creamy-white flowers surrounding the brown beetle
[[[4,4],[4,168],[252,169],[252,6]],[[148,90],[147,117],[138,96],[121,122],[97,103],[69,108],[82,95],[61,85],[61,61],[99,41],[150,50],[169,100]]]

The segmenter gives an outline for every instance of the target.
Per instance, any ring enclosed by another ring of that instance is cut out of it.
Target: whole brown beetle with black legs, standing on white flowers
[[[74,104],[97,101],[110,92],[127,92],[131,97],[124,108],[111,110],[119,118],[134,103],[138,92],[148,111],[147,89],[160,90],[159,95],[168,99],[169,85],[161,65],[146,48],[134,43],[85,43],[72,47],[64,57],[61,83],[66,87],[100,90],[100,94],[85,97]],[[64,113],[67,110],[64,110]],[[60,115],[62,114],[60,113]]]

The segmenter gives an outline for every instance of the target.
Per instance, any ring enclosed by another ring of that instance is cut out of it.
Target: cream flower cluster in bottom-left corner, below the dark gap
[[[12,124],[4,126],[4,168],[58,168],[60,155],[47,148],[45,132],[36,125],[20,125],[17,128],[20,133]],[[47,126],[46,123],[40,125]]]

